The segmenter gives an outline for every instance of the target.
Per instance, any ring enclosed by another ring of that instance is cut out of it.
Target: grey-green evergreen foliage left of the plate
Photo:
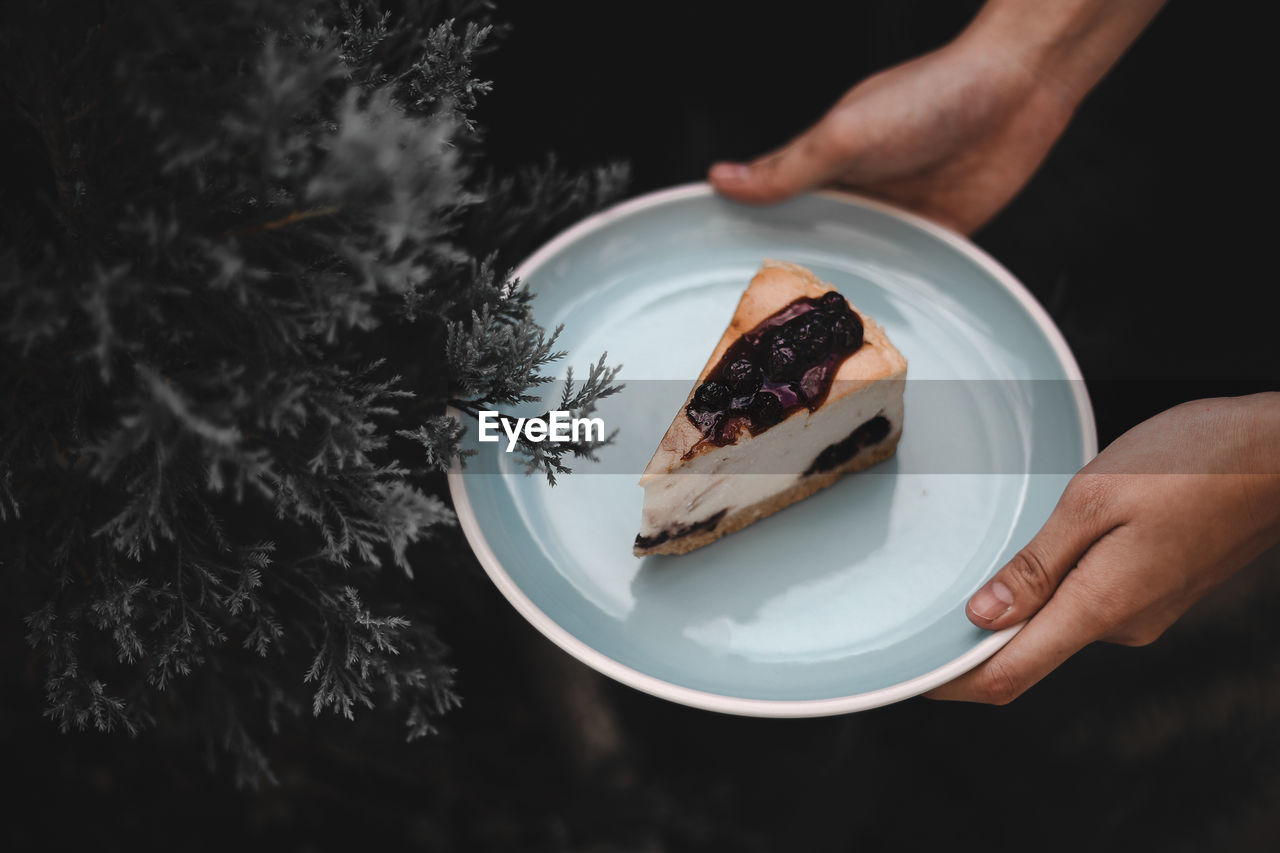
[[[509,265],[623,170],[484,169],[483,3],[6,15],[0,564],[47,716],[184,715],[244,781],[283,713],[430,733],[453,670],[380,570],[456,535],[447,405],[536,400],[562,356]],[[552,482],[593,450],[524,447]]]

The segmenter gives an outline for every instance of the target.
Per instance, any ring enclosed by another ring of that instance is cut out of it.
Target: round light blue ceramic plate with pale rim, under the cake
[[[640,471],[764,257],[831,282],[906,356],[899,451],[712,546],[634,557]],[[598,465],[550,487],[472,423],[449,475],[481,565],[561,648],[675,702],[815,716],[923,693],[1016,630],[974,628],[965,602],[1097,438],[1052,320],[973,243],[846,195],[753,207],[694,184],[579,223],[517,274],[576,377],[607,350],[628,383],[600,407],[620,433]]]

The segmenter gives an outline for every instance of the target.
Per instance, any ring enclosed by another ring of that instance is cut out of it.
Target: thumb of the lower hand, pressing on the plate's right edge
[[[1107,521],[1101,478],[1078,474],[1068,484],[1039,533],[969,599],[969,621],[1000,630],[1030,619],[1048,603],[1084,552],[1115,526]]]

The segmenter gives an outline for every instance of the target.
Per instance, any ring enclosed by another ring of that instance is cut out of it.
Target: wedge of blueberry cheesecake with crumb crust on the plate
[[[640,485],[635,553],[685,553],[888,459],[906,360],[803,266],[764,261]]]

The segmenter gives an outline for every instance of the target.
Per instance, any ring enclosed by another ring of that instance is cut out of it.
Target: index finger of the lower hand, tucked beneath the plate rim
[[[1107,633],[1107,621],[1066,583],[1027,626],[993,657],[955,681],[934,688],[931,699],[1007,704]]]

